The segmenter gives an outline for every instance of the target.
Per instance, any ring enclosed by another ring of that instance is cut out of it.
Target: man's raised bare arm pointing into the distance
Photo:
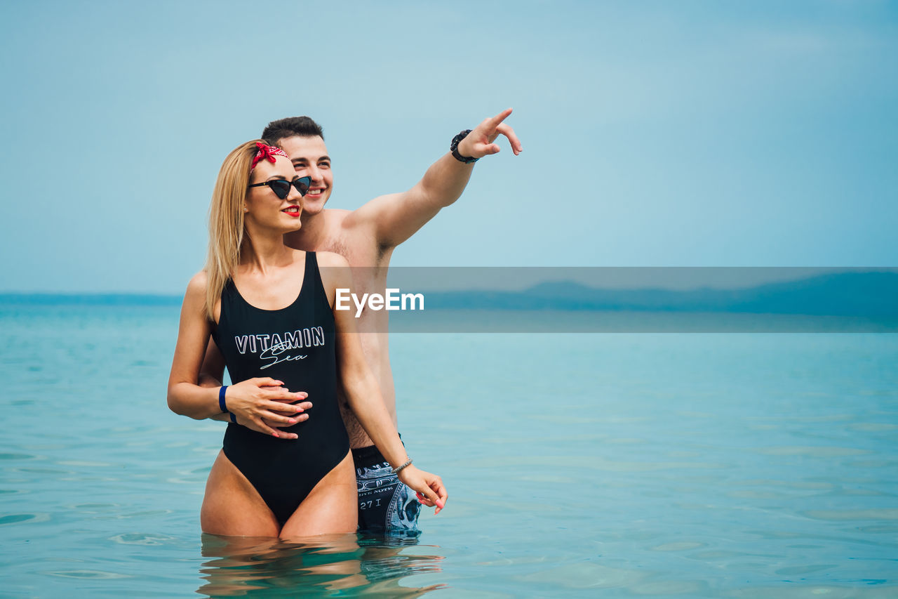
[[[457,154],[462,158],[481,158],[499,151],[493,143],[504,135],[515,156],[521,153],[521,142],[505,121],[511,109],[485,119],[458,143]],[[395,247],[411,237],[440,209],[462,195],[474,163],[465,164],[453,154],[446,153],[427,169],[427,173],[408,192],[390,193],[374,198],[355,210],[350,219],[353,226],[371,227],[378,246]],[[369,229],[370,230],[370,229]]]

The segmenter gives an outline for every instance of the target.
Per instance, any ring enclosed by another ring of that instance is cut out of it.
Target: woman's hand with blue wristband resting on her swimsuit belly
[[[290,392],[279,380],[257,378],[242,380],[228,387],[225,402],[228,411],[237,419],[238,425],[279,439],[295,439],[295,434],[278,430],[280,426],[292,426],[306,420],[304,411],[312,403],[302,401],[308,394]],[[290,402],[300,403],[290,403]]]

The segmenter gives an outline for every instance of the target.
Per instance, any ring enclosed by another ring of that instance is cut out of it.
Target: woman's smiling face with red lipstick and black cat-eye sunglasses
[[[298,179],[293,164],[286,156],[275,156],[274,164],[261,160],[250,176],[250,184],[268,181],[293,181]],[[300,215],[303,213],[303,196],[290,185],[290,192],[281,200],[268,185],[250,187],[243,201],[248,226],[268,228],[277,232],[295,231],[302,225]]]

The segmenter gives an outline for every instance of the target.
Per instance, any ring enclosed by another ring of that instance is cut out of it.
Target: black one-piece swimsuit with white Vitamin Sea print
[[[286,427],[295,440],[276,439],[229,423],[224,450],[283,525],[315,484],[349,451],[337,405],[336,327],[321,284],[318,260],[305,254],[303,288],[279,310],[251,306],[228,281],[213,332],[233,382],[254,377],[281,380],[292,392],[306,391],[309,419]]]

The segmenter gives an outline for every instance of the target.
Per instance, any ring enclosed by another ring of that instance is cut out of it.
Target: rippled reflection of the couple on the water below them
[[[409,548],[414,548],[410,550]],[[389,595],[418,597],[444,585],[400,586],[405,577],[440,572],[444,556],[416,537],[340,534],[313,541],[203,534],[199,572],[207,597]]]

